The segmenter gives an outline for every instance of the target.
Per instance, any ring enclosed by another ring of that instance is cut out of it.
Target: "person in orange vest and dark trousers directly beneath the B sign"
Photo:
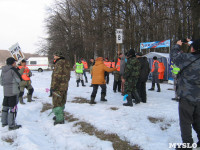
[[[121,75],[120,75],[120,61],[121,61],[122,56],[123,56],[123,54],[119,53],[117,60],[115,60],[115,62],[116,62],[115,66],[117,68],[117,71],[114,72],[114,84],[113,84],[114,93],[117,92],[117,88],[118,88],[118,92],[121,92],[122,80],[121,80]]]

